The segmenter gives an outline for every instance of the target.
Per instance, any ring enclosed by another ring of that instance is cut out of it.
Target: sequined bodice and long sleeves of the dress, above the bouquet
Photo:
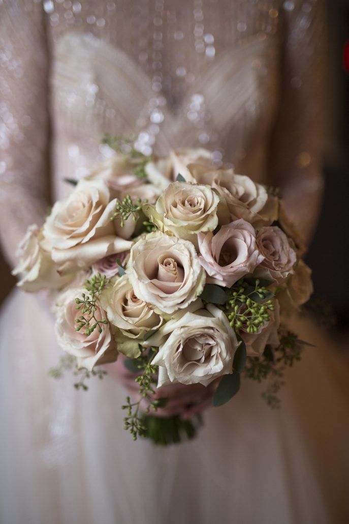
[[[2,0],[1,237],[13,260],[104,132],[145,154],[204,146],[282,188],[307,233],[321,177],[317,0]],[[50,162],[49,162],[50,158]]]

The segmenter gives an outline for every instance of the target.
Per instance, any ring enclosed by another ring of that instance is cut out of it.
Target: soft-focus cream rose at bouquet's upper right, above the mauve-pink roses
[[[197,183],[211,185],[226,201],[232,220],[262,225],[277,219],[278,199],[268,197],[265,187],[251,178],[235,174],[233,169],[207,171],[197,165],[189,169]]]

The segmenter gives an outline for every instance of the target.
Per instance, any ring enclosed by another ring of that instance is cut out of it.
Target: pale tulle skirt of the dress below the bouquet
[[[2,524],[337,524],[349,522],[349,363],[309,321],[282,409],[244,380],[205,413],[192,442],[133,442],[116,379],[54,380],[62,354],[44,302],[18,291],[0,320]]]

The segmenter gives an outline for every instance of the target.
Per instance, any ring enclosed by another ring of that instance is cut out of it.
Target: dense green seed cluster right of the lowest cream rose
[[[224,312],[235,332],[244,328],[247,333],[254,334],[269,322],[269,311],[275,309],[271,300],[274,294],[262,283],[259,279],[253,280],[253,284],[251,280],[241,279],[228,290],[229,299]]]

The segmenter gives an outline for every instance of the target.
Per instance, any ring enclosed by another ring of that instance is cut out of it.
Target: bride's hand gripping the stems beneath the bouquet
[[[125,367],[125,359],[125,356],[119,355],[117,362],[105,367],[130,391],[132,398],[138,401],[140,398],[138,392],[139,386],[136,381],[134,381],[137,375],[129,372]],[[164,408],[158,408],[156,412],[152,411],[152,414],[158,417],[171,417],[179,414],[182,419],[189,419],[212,404],[213,391],[213,387],[205,387],[201,384],[192,384],[189,386],[184,384],[171,384],[169,386],[162,386],[159,389],[155,389],[153,398],[167,398],[168,401]],[[145,407],[147,406],[144,405],[143,408]]]

